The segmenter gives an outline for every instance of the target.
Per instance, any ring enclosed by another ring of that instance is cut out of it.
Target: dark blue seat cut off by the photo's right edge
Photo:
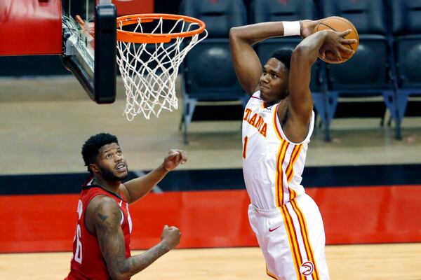
[[[398,75],[400,118],[408,98],[421,95],[421,1],[393,0],[392,31]]]

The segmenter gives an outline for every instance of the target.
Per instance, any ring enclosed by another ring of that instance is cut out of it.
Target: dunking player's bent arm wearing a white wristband
[[[262,75],[262,64],[252,45],[267,38],[284,36],[284,24],[289,28],[286,35],[300,35],[300,22],[262,22],[233,27],[229,31],[234,70],[241,86],[250,95],[258,90]]]

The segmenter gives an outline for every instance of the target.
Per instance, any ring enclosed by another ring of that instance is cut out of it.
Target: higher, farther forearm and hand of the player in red
[[[185,151],[170,150],[162,165],[145,176],[121,184],[120,190],[129,204],[140,200],[171,170],[187,162]]]

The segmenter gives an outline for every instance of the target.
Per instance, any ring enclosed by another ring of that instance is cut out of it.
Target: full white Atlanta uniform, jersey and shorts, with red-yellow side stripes
[[[314,113],[305,140],[286,139],[276,111],[260,92],[243,117],[243,174],[251,204],[248,221],[265,256],[267,274],[279,280],[328,280],[323,220],[301,186]]]

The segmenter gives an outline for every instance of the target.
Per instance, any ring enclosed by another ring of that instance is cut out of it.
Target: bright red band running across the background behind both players
[[[421,186],[309,188],[327,244],[421,241]],[[71,251],[79,195],[0,196],[0,253]],[[132,249],[149,248],[163,225],[178,248],[258,246],[245,190],[149,194],[131,205]]]

